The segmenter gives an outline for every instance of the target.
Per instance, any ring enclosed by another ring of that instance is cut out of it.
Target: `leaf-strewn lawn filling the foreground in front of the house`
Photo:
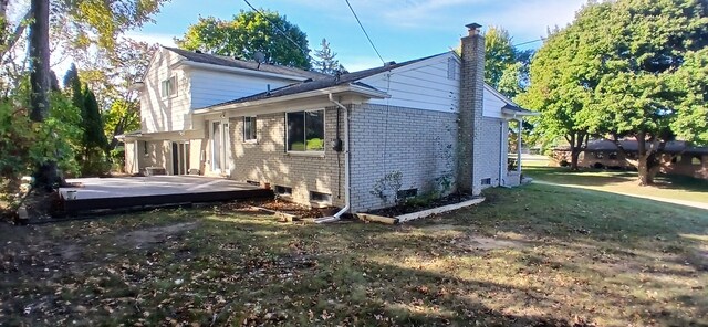
[[[222,208],[2,226],[0,321],[708,324],[706,211],[544,184],[486,196],[400,226]]]

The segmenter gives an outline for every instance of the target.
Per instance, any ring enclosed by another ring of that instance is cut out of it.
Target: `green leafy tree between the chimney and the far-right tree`
[[[577,170],[580,154],[597,133],[594,88],[600,83],[594,31],[607,15],[610,3],[593,3],[579,11],[572,25],[550,32],[530,66],[530,86],[517,101],[541,113],[534,118],[544,141],[568,141],[571,169]]]

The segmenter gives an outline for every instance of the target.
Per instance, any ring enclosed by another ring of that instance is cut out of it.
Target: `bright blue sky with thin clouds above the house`
[[[344,0],[249,0],[257,8],[275,10],[308,34],[311,49],[322,38],[330,41],[337,59],[350,71],[381,65],[376,53],[360,30]],[[548,27],[569,23],[584,0],[350,0],[364,28],[385,61],[406,61],[440,53],[457,46],[465,24],[500,25],[514,42],[537,40]],[[129,36],[142,41],[174,44],[199,15],[230,19],[242,0],[173,0],[155,23]],[[524,45],[535,48],[540,42]]]

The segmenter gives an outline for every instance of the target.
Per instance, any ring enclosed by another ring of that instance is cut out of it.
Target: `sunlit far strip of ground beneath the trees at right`
[[[656,184],[639,187],[635,171],[584,168],[571,171],[562,167],[523,167],[523,173],[537,180],[582,187],[614,193],[656,197],[708,203],[708,180],[685,176],[659,175]]]

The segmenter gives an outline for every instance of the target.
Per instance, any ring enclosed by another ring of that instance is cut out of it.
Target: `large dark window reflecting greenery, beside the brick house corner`
[[[285,114],[288,151],[324,151],[324,109]]]

